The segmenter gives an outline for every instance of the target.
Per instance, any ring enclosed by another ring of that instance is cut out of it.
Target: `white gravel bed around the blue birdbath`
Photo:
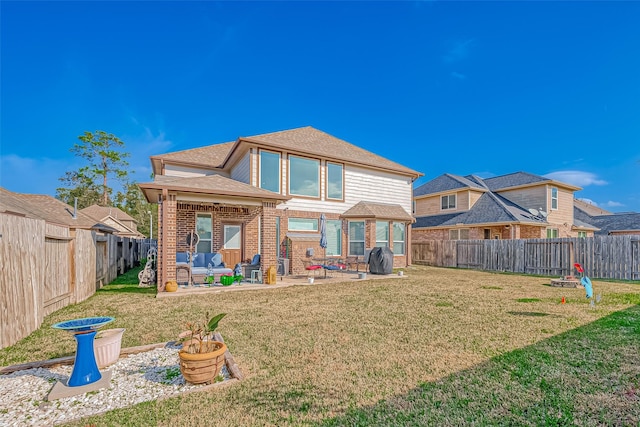
[[[66,365],[0,375],[0,426],[51,426],[205,387],[186,383],[178,348],[164,347],[122,357],[107,367],[109,388],[47,401],[55,382],[65,382],[72,369]],[[231,379],[226,366],[222,375]]]

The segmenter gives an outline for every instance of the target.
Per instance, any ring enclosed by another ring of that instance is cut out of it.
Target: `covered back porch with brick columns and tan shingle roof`
[[[276,205],[287,197],[221,175],[158,178],[140,188],[158,203],[159,293],[178,279],[178,253],[189,254],[189,268],[194,258],[209,261],[216,254],[229,269],[255,254],[262,271],[277,265]]]

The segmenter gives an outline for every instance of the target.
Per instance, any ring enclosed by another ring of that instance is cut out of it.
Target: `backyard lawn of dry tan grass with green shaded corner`
[[[0,364],[71,354],[73,338],[50,325],[73,317],[114,316],[113,327],[127,328],[123,346],[133,346],[224,311],[218,330],[242,382],[69,425],[207,425],[213,414],[233,426],[640,423],[637,284],[594,281],[602,299],[592,308],[584,290],[539,277],[405,274],[163,299],[109,285],[0,350]]]

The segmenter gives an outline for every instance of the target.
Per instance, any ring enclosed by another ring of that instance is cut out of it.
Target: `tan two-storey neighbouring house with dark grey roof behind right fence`
[[[493,178],[441,175],[414,191],[414,242],[458,239],[587,237],[574,219],[570,184],[516,172]]]

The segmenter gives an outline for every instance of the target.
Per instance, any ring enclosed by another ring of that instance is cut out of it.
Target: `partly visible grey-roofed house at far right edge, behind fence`
[[[611,213],[581,200],[575,201],[573,210],[576,219],[598,227],[596,236],[640,235],[640,213],[638,212]]]

